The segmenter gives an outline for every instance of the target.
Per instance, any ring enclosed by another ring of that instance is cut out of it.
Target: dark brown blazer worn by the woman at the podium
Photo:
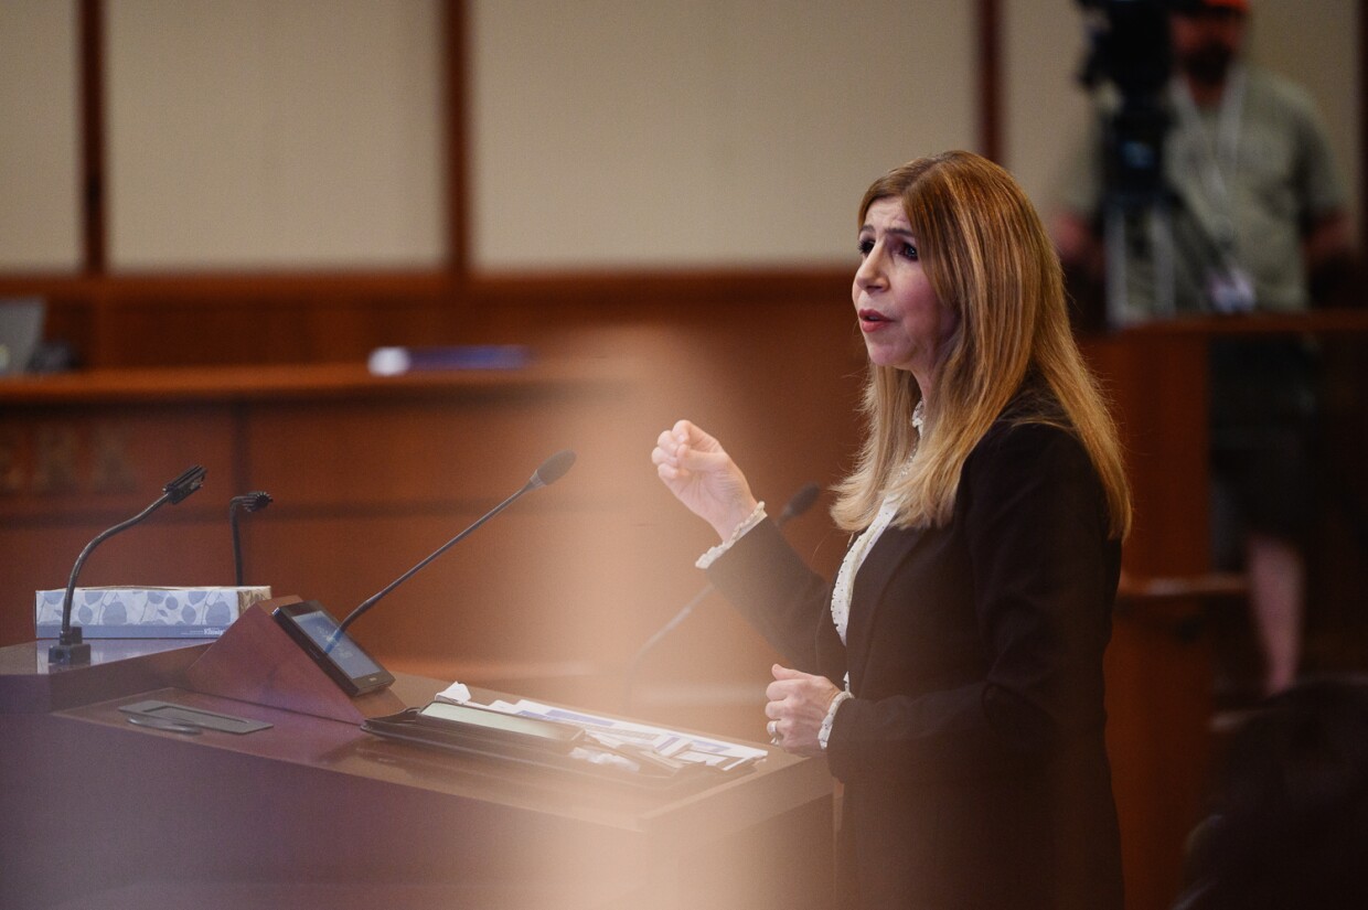
[[[830,586],[773,523],[713,564],[795,666],[850,672],[828,746],[843,905],[1122,906],[1103,742],[1119,568],[1082,446],[1007,420],[966,461],[948,525],[889,528],[870,550],[847,645]]]

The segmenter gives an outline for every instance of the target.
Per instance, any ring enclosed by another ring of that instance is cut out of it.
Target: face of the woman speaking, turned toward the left
[[[851,297],[869,359],[910,371],[922,395],[929,395],[959,317],[932,290],[902,200],[874,200],[859,231],[859,250]]]

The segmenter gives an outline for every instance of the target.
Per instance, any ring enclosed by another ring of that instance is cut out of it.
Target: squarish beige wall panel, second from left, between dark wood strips
[[[109,0],[115,271],[434,267],[435,0]]]

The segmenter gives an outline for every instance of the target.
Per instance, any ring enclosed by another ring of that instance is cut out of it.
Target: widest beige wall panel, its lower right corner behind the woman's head
[[[970,3],[473,5],[480,270],[847,261],[873,178],[975,141]]]

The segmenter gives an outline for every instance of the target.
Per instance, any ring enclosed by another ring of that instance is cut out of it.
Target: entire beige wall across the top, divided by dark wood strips
[[[0,3],[0,271],[79,263],[74,0]],[[977,145],[963,0],[471,0],[488,274],[830,265],[902,160]],[[432,268],[440,0],[107,0],[112,271]],[[1086,118],[1071,0],[1004,0],[1003,157],[1042,209]],[[1353,0],[1260,0],[1357,200]]]

